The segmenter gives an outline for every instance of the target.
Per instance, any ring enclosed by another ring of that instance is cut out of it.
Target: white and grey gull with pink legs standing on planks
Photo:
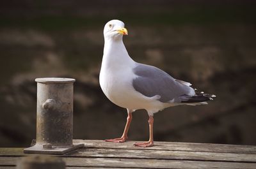
[[[136,142],[135,146],[152,147],[154,114],[167,107],[177,105],[205,105],[215,97],[213,94],[195,92],[189,82],[177,80],[168,73],[133,61],[129,56],[123,36],[128,35],[124,22],[110,20],[104,26],[104,50],[100,68],[100,87],[106,97],[127,109],[127,122],[120,138],[106,142],[125,142],[132,121],[132,112],[147,110],[149,119],[148,142]]]

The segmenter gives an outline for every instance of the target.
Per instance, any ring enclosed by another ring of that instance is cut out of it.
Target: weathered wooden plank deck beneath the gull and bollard
[[[209,143],[155,142],[154,147],[134,147],[134,142],[74,140],[84,143],[61,156],[67,168],[256,168],[256,146]],[[0,169],[15,168],[22,148],[0,148]]]

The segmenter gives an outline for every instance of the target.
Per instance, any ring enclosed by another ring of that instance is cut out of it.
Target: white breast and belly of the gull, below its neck
[[[158,112],[169,107],[157,100],[157,96],[148,98],[137,92],[132,87],[132,79],[136,75],[132,69],[122,69],[122,71],[100,70],[100,87],[107,98],[119,107],[130,110],[146,109],[148,113]]]

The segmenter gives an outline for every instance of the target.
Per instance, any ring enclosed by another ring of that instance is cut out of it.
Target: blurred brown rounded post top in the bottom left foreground
[[[28,156],[21,158],[17,169],[65,169],[65,162],[53,156]]]

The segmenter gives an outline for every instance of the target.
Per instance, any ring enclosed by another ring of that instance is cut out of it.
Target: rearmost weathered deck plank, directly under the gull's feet
[[[180,143],[180,142],[154,142],[153,147],[134,147],[134,141],[125,143],[111,143],[103,140],[74,140],[74,143],[84,143],[85,147],[105,149],[147,149],[157,151],[198,151],[198,152],[230,152],[256,154],[254,145],[228,145],[214,143]]]

